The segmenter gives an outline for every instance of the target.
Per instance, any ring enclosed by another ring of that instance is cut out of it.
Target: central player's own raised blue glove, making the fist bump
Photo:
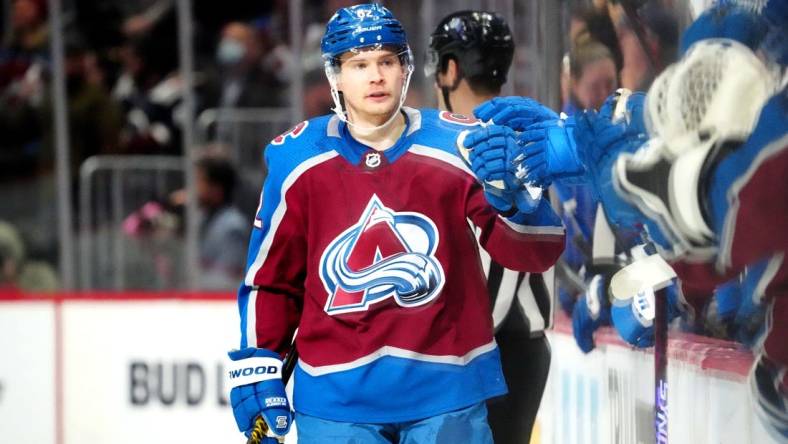
[[[461,141],[469,152],[468,162],[484,186],[490,205],[503,215],[532,213],[540,198],[533,198],[525,188],[523,154],[511,128],[499,125],[468,133]]]

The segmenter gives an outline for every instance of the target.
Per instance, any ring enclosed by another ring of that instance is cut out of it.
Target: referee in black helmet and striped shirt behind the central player
[[[439,107],[473,116],[474,108],[500,94],[513,54],[512,34],[500,15],[459,11],[444,17],[430,36],[424,68],[435,82]],[[547,108],[542,113],[557,117]],[[509,386],[505,397],[488,403],[490,427],[496,443],[527,443],[550,369],[544,329],[552,320],[552,273],[518,273],[481,254]]]

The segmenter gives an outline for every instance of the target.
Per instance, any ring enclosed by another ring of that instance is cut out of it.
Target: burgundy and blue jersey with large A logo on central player
[[[474,229],[493,258],[542,272],[564,229],[545,202],[513,223],[456,154],[476,121],[404,108],[389,149],[335,116],[265,152],[269,175],[239,290],[241,346],[284,355],[296,328],[297,411],[335,421],[426,418],[506,392]]]

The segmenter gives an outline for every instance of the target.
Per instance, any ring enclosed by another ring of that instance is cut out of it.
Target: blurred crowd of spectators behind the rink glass
[[[3,1],[0,286],[236,288],[265,177],[262,149],[294,123],[330,112],[320,38],[333,11],[354,3],[64,0],[62,29],[53,29],[54,2]],[[703,2],[381,3],[405,25],[416,56],[407,105],[436,105],[434,79],[418,65],[438,21],[485,9],[506,18],[516,42],[503,93],[571,115],[600,107],[619,87],[647,90],[676,59],[681,31]],[[186,25],[178,20],[183,7],[192,18]],[[179,35],[191,36],[188,77]],[[55,38],[64,57],[65,191],[56,180]],[[554,193],[572,239],[563,261],[569,274],[588,272],[596,206],[584,193]],[[71,218],[65,234],[57,229],[63,214]],[[192,214],[199,220],[190,240]],[[562,285],[567,300],[576,297],[571,288]]]

